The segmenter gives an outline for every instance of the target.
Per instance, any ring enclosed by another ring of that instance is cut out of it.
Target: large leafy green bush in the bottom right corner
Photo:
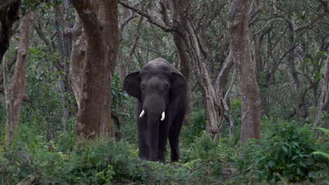
[[[271,125],[258,142],[250,140],[244,144],[240,155],[233,159],[240,169],[238,178],[269,182],[284,178],[298,182],[326,177],[324,174],[328,172],[328,163],[311,155],[323,146],[316,141],[315,132],[308,125]]]

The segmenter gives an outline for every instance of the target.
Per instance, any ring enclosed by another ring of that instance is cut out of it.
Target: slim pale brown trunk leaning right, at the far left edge
[[[18,43],[17,61],[13,78],[11,79],[9,95],[9,109],[6,142],[11,144],[13,136],[18,132],[20,123],[20,106],[25,95],[25,76],[27,71],[27,53],[29,49],[30,36],[33,30],[34,13],[27,13],[20,21],[20,41]]]

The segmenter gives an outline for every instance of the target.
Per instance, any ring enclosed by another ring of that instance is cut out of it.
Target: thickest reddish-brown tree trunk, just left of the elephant
[[[110,132],[112,74],[120,39],[117,1],[72,4],[79,16],[72,30],[72,39],[77,39],[72,40],[71,55],[72,85],[79,106],[75,127],[77,135],[93,138]],[[83,27],[82,33],[79,27]]]

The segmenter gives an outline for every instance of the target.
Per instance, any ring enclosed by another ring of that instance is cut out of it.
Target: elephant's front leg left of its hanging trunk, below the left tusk
[[[136,118],[137,118],[137,132],[138,132],[138,156],[140,158],[149,160],[150,151],[148,150],[148,124],[146,118],[139,118],[141,114],[141,104],[138,100],[136,103]]]

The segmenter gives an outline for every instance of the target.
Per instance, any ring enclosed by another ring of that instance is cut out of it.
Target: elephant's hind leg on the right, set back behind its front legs
[[[172,162],[179,160],[179,132],[181,132],[184,116],[185,109],[181,110],[179,114],[176,115],[169,129],[170,160]]]

